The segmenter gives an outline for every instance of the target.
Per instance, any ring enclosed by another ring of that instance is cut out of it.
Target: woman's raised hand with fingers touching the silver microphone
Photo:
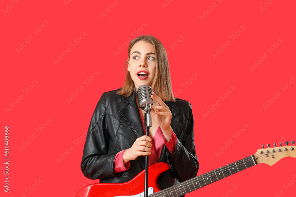
[[[163,131],[165,142],[168,142],[173,132],[173,129],[170,126],[173,115],[170,112],[170,108],[163,102],[163,100],[160,99],[159,96],[156,96],[154,92],[152,92],[151,98],[159,104],[159,106],[151,106],[151,114],[154,115],[155,121]],[[158,111],[155,111],[155,109]]]

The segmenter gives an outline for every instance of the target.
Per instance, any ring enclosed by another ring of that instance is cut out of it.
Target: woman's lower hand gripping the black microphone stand
[[[151,146],[152,146],[151,142],[152,142],[152,139],[147,135],[143,135],[142,137],[137,138],[136,141],[133,143],[133,146],[131,146],[131,148],[126,149],[126,151],[124,151],[123,164],[126,164],[130,160],[137,159],[138,156],[150,155]],[[146,152],[143,152],[143,151],[146,151]]]

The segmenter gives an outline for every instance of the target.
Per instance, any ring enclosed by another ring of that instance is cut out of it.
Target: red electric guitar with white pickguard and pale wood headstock
[[[289,142],[285,142],[286,145]],[[178,185],[173,185],[164,190],[157,187],[158,176],[169,169],[166,163],[156,163],[148,168],[148,196],[149,197],[177,197],[192,192],[206,185],[214,183],[239,171],[260,163],[273,165],[280,159],[290,156],[296,157],[294,146],[281,146],[275,148],[259,149],[254,155],[228,164],[221,168],[207,172],[198,177],[186,180]],[[263,145],[262,145],[263,146]],[[126,183],[96,183],[88,185],[78,191],[75,197],[144,197],[144,170]]]

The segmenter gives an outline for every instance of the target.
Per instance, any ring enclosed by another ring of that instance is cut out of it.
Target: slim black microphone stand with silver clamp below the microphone
[[[152,110],[151,104],[146,103],[144,110],[146,112],[145,117],[144,117],[146,135],[149,136],[149,128],[151,127],[151,114],[150,114],[150,110]],[[145,156],[145,192],[144,192],[144,197],[148,197],[148,155]]]

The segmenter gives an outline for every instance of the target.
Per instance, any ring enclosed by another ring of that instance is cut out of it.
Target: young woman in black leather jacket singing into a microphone
[[[150,35],[133,39],[126,65],[123,87],[103,93],[91,118],[81,162],[83,174],[100,183],[124,183],[145,168],[144,156],[149,155],[149,165],[170,165],[158,178],[161,189],[195,177],[198,161],[192,109],[189,102],[173,96],[163,44]],[[138,105],[141,85],[150,85],[153,91],[149,136],[144,135],[145,111]]]

